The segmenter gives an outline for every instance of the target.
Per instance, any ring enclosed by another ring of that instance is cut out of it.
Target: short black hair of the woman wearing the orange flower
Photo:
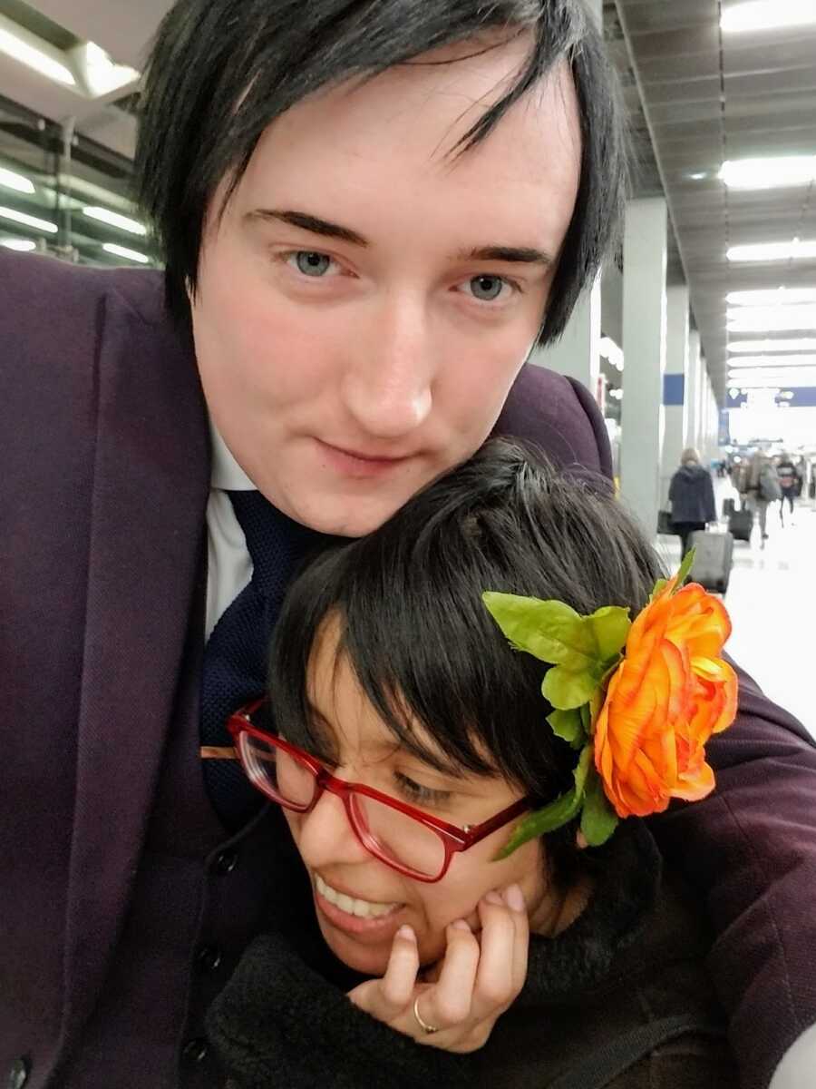
[[[660,575],[605,481],[492,440],[370,536],[330,547],[294,582],[271,651],[276,726],[327,752],[308,666],[336,619],[336,660],[350,664],[405,748],[445,771],[499,773],[549,802],[571,785],[577,755],[545,722],[547,666],[510,650],[482,592],[557,599],[584,615],[610,604],[634,613]]]

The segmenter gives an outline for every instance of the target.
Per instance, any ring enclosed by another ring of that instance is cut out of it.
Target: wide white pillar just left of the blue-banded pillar
[[[623,238],[620,491],[650,538],[656,533],[660,501],[667,227],[663,197],[630,203]]]

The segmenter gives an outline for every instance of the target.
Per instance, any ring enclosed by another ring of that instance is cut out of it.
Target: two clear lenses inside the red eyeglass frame
[[[309,768],[255,734],[242,734],[240,751],[249,778],[265,794],[296,809],[308,809],[317,788]],[[351,794],[349,808],[363,845],[383,861],[422,877],[442,872],[445,845],[431,829],[364,794]]]

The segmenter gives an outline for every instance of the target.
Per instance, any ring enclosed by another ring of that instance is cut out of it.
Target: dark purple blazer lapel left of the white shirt
[[[210,455],[191,344],[111,291],[97,445],[63,1040],[85,1020],[127,908],[195,592]]]

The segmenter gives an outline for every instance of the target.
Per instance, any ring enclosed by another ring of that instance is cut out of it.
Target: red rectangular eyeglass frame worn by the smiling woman
[[[226,722],[226,729],[230,731],[230,735],[232,736],[233,744],[235,746],[235,755],[240,761],[240,767],[251,785],[257,791],[260,791],[261,794],[265,795],[270,802],[274,802],[283,809],[289,809],[290,811],[298,813],[310,813],[323,794],[329,791],[330,794],[334,794],[335,797],[338,797],[343,803],[346,810],[346,818],[351,831],[355,833],[362,847],[373,858],[376,858],[386,866],[390,866],[398,873],[412,878],[415,881],[423,881],[426,884],[435,884],[437,881],[442,881],[448,871],[454,855],[469,851],[470,847],[475,846],[477,843],[481,843],[482,840],[485,840],[493,832],[497,832],[498,829],[509,824],[511,820],[516,817],[520,817],[521,813],[527,812],[531,807],[531,799],[523,797],[514,802],[494,817],[490,817],[487,820],[481,821],[479,824],[466,824],[463,828],[450,824],[441,817],[434,817],[432,813],[428,813],[423,809],[418,809],[416,806],[411,806],[407,802],[400,802],[399,798],[393,798],[391,795],[384,794],[382,791],[378,791],[373,786],[367,786],[364,783],[349,782],[345,779],[337,779],[323,767],[320,760],[311,756],[311,754],[307,752],[305,749],[301,749],[297,745],[293,745],[292,742],[285,741],[283,737],[280,737],[277,734],[274,734],[269,730],[262,730],[260,726],[256,726],[252,723],[250,715],[255,714],[255,712],[265,702],[265,697],[251,700],[249,703],[245,703],[243,707],[238,708],[237,711],[234,711]],[[287,752],[290,757],[297,760],[298,763],[306,767],[314,780],[314,793],[308,806],[298,806],[293,802],[283,802],[281,798],[274,796],[269,790],[264,788],[262,783],[254,776],[244,761],[244,755],[242,752],[239,741],[240,734],[243,733],[257,737],[259,741],[267,742],[268,744],[271,743],[275,748],[280,748],[284,752]],[[372,846],[366,842],[361,830],[357,827],[351,807],[351,796],[354,794],[361,794],[363,797],[372,798],[374,802],[379,802],[391,809],[396,809],[397,812],[401,812],[405,817],[409,817],[411,820],[416,820],[430,831],[435,832],[442,840],[445,849],[445,861],[443,862],[442,870],[438,876],[432,878],[418,873],[410,867],[401,866],[396,860],[386,858],[379,851],[373,849]]]

